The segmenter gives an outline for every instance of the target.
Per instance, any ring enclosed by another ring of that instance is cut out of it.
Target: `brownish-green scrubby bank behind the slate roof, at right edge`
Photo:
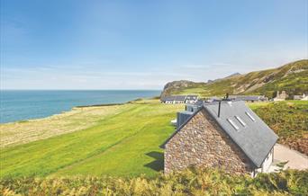
[[[254,103],[250,107],[279,136],[279,143],[308,156],[308,102]]]

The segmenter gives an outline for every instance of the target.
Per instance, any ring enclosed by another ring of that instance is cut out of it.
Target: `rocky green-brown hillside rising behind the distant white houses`
[[[285,66],[239,73],[207,83],[174,81],[165,85],[161,96],[170,94],[199,94],[203,97],[224,94],[265,94],[273,97],[276,91],[285,90],[287,94],[308,92],[308,59],[298,60]]]

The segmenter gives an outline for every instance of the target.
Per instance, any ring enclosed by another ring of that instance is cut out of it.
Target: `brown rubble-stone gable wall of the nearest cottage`
[[[189,166],[220,167],[234,174],[252,170],[249,158],[205,110],[195,114],[166,145],[165,173]]]

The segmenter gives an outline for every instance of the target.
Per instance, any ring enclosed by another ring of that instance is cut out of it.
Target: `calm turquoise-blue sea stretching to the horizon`
[[[48,117],[76,106],[159,96],[158,90],[1,90],[0,123]]]

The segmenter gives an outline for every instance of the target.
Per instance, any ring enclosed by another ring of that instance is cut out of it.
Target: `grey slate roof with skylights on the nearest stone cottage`
[[[240,147],[243,153],[249,157],[250,161],[260,167],[266,159],[268,153],[276,144],[277,136],[267,124],[261,120],[257,114],[249,109],[242,101],[222,102],[221,115],[218,118],[218,102],[204,103],[199,111],[205,110],[210,113],[218,125],[226,132],[226,134]],[[199,111],[196,111],[195,114]],[[249,118],[249,113],[254,120]],[[186,120],[186,123],[194,116]],[[239,116],[246,126],[241,125],[240,121],[235,118]],[[227,120],[231,119],[238,130],[234,129],[231,123]],[[186,123],[182,124],[177,131],[180,131]],[[168,138],[162,145],[164,147],[168,141],[177,134],[177,131]]]

